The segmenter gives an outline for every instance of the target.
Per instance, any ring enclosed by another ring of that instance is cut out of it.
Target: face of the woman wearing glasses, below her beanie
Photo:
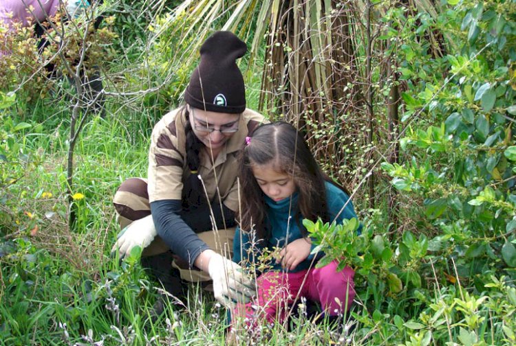
[[[190,124],[200,141],[211,150],[221,149],[238,131],[239,114],[202,111],[189,106]]]

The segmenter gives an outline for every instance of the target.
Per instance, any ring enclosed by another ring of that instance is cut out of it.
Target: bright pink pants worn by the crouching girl
[[[257,279],[258,301],[237,305],[237,316],[245,314],[250,324],[265,316],[268,323],[283,323],[289,305],[300,297],[321,303],[325,314],[334,316],[351,307],[355,297],[353,277],[355,272],[345,267],[336,272],[338,263],[331,262],[323,268],[311,268],[297,273],[267,272]],[[303,280],[306,280],[303,284]],[[257,305],[259,308],[252,308]]]

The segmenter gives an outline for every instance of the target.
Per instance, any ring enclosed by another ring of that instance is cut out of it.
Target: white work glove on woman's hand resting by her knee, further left
[[[142,250],[149,246],[156,234],[152,215],[145,216],[133,221],[118,233],[118,239],[111,252],[118,250],[120,258],[129,256],[134,246],[141,246]]]

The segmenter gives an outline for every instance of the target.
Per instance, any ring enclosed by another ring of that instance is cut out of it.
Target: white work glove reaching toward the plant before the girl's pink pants
[[[215,299],[227,308],[234,308],[235,303],[248,303],[256,295],[255,282],[244,269],[218,253],[211,257],[208,273],[213,280]]]

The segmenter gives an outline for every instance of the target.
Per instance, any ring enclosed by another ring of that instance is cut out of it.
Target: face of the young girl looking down
[[[251,170],[261,191],[275,202],[290,197],[296,191],[296,184],[292,176],[277,172],[272,163],[253,164]]]

